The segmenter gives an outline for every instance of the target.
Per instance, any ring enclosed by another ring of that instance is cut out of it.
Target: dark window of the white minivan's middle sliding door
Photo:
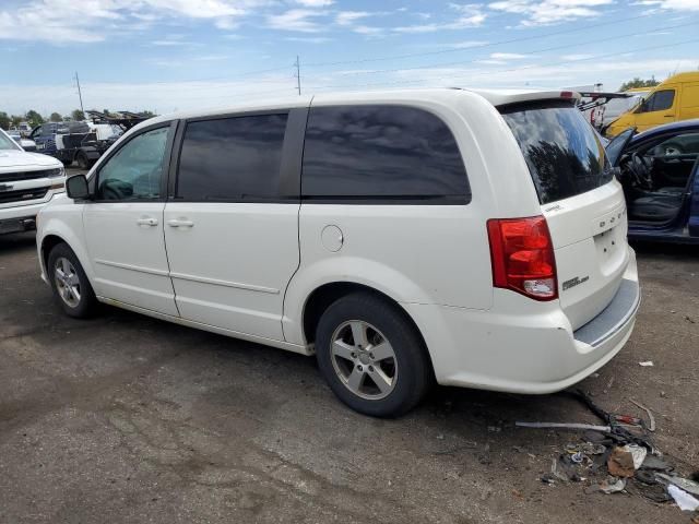
[[[196,201],[277,199],[287,115],[189,122],[177,198]]]

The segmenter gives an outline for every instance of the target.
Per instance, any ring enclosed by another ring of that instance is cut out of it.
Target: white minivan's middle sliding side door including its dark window
[[[188,121],[165,240],[183,319],[283,341],[306,110]],[[296,142],[296,143],[295,143]],[[295,144],[294,144],[295,143]]]

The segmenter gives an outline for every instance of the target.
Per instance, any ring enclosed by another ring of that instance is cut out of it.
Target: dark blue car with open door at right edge
[[[699,119],[629,128],[606,151],[624,186],[629,238],[699,243]]]

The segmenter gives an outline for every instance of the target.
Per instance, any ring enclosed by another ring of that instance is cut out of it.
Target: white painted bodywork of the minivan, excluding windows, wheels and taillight
[[[311,294],[328,284],[363,285],[393,299],[414,321],[438,382],[525,393],[560,390],[624,346],[640,295],[620,186],[613,181],[541,205],[520,145],[496,108],[559,96],[401,91],[157,117],[112,147],[174,119],[309,105],[420,108],[452,131],[472,199],[465,205],[168,201],[147,210],[62,199],[42,213],[37,242],[40,248],[47,236],[64,239],[107,303],[305,354],[313,352],[304,331]],[[558,270],[560,298],[545,302],[493,287],[486,230],[489,218],[536,215],[546,217]],[[139,226],[144,216],[158,224]],[[170,221],[191,226],[169,227]],[[328,227],[340,231],[341,249],[324,243]],[[576,278],[584,279],[564,288]],[[631,291],[619,306],[625,283]]]

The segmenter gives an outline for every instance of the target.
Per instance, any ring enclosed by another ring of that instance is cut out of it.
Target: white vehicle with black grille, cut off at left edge
[[[60,162],[25,152],[0,129],[0,235],[34,229],[39,210],[64,183]]]

